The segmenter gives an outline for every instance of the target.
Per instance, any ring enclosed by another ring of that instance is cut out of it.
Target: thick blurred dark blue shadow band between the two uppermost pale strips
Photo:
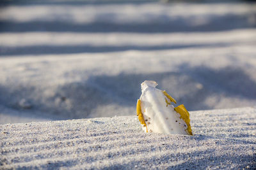
[[[100,16],[99,16],[100,17]],[[159,16],[164,18],[164,16]],[[160,19],[160,18],[159,18]],[[88,24],[72,24],[72,22],[54,21],[28,21],[12,22],[0,20],[0,32],[207,32],[207,31],[228,31],[253,27],[248,23],[246,15],[212,15],[207,17],[205,24],[194,25],[191,20],[195,18],[176,17],[166,22],[150,23],[115,23],[103,22],[95,18],[94,22]]]

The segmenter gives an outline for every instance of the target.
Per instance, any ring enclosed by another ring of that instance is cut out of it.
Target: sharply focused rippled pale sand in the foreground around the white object
[[[194,136],[135,116],[0,125],[0,169],[255,169],[256,109],[191,111]]]

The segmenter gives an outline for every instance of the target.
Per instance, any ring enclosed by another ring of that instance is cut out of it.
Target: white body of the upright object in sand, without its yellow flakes
[[[174,110],[174,106],[166,104],[166,99],[168,102],[170,100],[156,86],[155,81],[145,80],[141,83],[141,112],[147,124],[147,129],[143,127],[143,130],[163,134],[187,134],[186,123]]]

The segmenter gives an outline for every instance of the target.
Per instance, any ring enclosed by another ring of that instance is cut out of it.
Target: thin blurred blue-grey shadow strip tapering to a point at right
[[[106,52],[122,52],[126,50],[172,50],[180,48],[214,48],[231,45],[239,45],[241,43],[211,43],[211,44],[191,44],[191,45],[156,45],[156,46],[91,46],[91,45],[75,45],[75,46],[54,46],[54,45],[38,45],[38,46],[0,46],[0,56],[8,55],[44,55],[44,54],[68,54],[68,53],[106,53]],[[244,43],[243,43],[244,44]],[[6,57],[4,56],[4,57]]]

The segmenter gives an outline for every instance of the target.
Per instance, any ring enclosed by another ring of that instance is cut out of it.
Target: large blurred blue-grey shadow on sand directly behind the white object
[[[95,108],[116,104],[120,110],[131,108],[135,112],[136,100],[140,97],[140,83],[154,80],[159,89],[166,90],[178,104],[184,104],[188,110],[214,109],[205,103],[207,97],[234,97],[248,101],[256,99],[256,82],[239,67],[224,67],[214,70],[208,67],[186,67],[180,72],[154,74],[126,74],[117,76],[91,76],[86,81],[60,85],[58,87],[28,87],[10,85],[0,87],[0,102],[19,110],[17,103],[27,99],[33,107],[30,111],[42,111],[58,115],[60,119],[93,117]],[[198,86],[199,85],[199,86]],[[51,88],[51,89],[49,89]],[[45,90],[51,90],[52,96],[44,96]],[[6,101],[12,101],[7,103]],[[131,115],[122,112],[121,115]],[[104,117],[104,111],[97,117]]]

